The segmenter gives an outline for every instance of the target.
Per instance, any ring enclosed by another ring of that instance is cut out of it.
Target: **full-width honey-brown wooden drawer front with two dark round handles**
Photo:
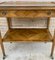
[[[37,10],[0,11],[0,17],[36,18],[36,17],[51,17],[54,15],[55,14],[52,11],[37,11]]]

